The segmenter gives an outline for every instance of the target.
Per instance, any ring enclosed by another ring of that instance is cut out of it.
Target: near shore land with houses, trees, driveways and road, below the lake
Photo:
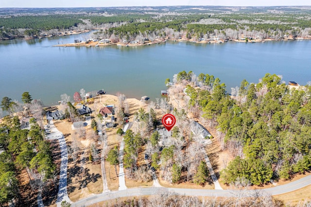
[[[23,104],[3,97],[1,107],[10,114],[0,123],[7,198],[84,206],[135,195],[133,202],[146,205],[163,197],[203,205],[200,195],[227,197],[219,205],[271,206],[303,205],[301,199],[311,197],[301,197],[311,184],[305,139],[310,85],[289,87],[266,74],[257,84],[243,80],[228,94],[219,78],[191,71],[168,83],[168,97],[156,102],[84,89],[46,108],[28,92]],[[161,124],[167,113],[176,118],[171,131]],[[14,183],[7,185],[6,178]],[[139,201],[143,195],[151,200]]]

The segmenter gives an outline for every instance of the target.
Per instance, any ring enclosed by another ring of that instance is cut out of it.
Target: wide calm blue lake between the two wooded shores
[[[311,81],[311,41],[193,44],[167,42],[144,47],[52,47],[84,40],[88,34],[0,42],[0,99],[20,100],[24,91],[45,105],[56,104],[63,93],[71,97],[104,88],[129,98],[151,100],[166,89],[166,78],[182,70],[208,73],[227,86],[242,79],[257,83],[265,73],[305,85]]]

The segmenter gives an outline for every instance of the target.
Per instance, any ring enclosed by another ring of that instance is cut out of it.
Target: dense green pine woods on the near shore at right
[[[244,178],[262,185],[311,169],[311,86],[289,89],[277,75],[266,74],[258,84],[243,80],[230,97],[218,78],[193,77],[177,75],[179,82],[201,86],[187,86],[190,107],[200,108],[221,133],[223,149],[236,156],[221,172],[224,183]]]

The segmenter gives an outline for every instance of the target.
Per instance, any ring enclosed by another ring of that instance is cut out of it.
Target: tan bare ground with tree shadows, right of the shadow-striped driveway
[[[61,120],[54,121],[54,125],[64,134],[69,149],[67,191],[70,200],[77,201],[89,197],[93,193],[102,192],[100,159],[92,163],[88,160],[92,144],[99,153],[101,149],[98,139],[90,135],[92,133],[90,126],[85,127],[86,138],[79,138],[77,130],[71,128],[72,123]]]

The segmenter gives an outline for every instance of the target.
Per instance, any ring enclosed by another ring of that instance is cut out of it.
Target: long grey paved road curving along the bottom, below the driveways
[[[308,175],[299,180],[293,181],[291,183],[276,186],[269,189],[259,190],[268,195],[278,195],[287,192],[291,192],[293,190],[297,190],[303,188],[305,186],[311,185],[311,175]],[[107,193],[102,193],[98,195],[94,195],[92,197],[88,197],[77,201],[72,204],[72,207],[83,207],[91,204],[95,204],[98,202],[102,202],[105,200],[120,198],[120,197],[131,197],[131,196],[142,196],[142,195],[155,195],[158,192],[168,191],[174,192],[179,195],[188,195],[188,196],[210,196],[210,197],[235,197],[239,194],[238,190],[201,190],[201,189],[177,189],[177,188],[133,188],[127,190],[119,190],[119,191],[111,191]],[[258,190],[257,190],[258,191]],[[243,192],[243,196],[254,195],[256,190],[246,190]],[[241,195],[241,194],[240,194]]]

